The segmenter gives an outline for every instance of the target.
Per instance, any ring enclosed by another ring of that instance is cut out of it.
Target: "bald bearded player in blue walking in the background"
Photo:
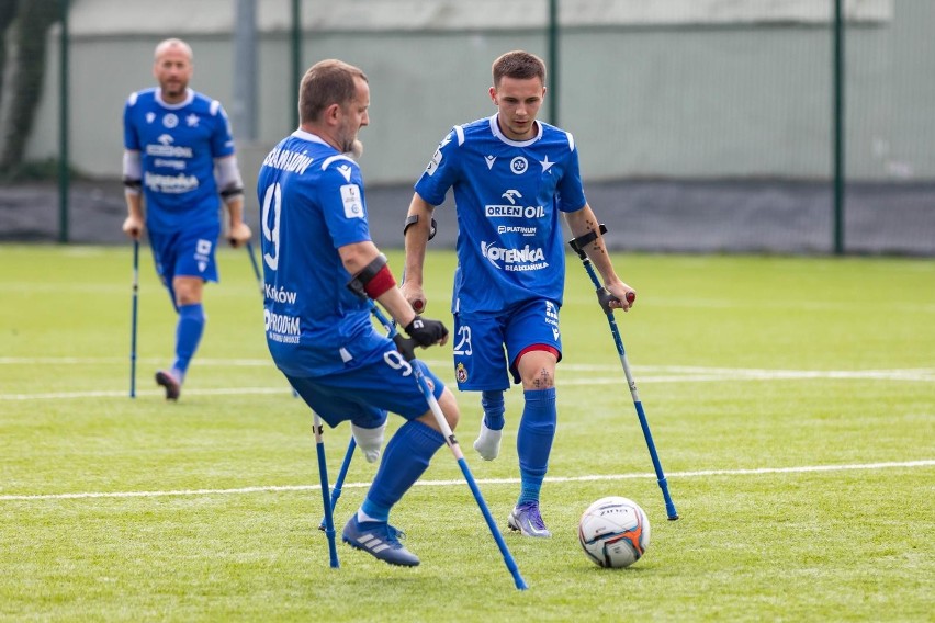
[[[161,42],[153,67],[159,87],[131,94],[123,111],[123,230],[139,240],[145,224],[156,271],[179,316],[176,359],[156,372],[168,400],[178,400],[204,330],[204,283],[217,281],[222,200],[230,243],[251,235],[227,114],[217,100],[189,89],[192,69],[187,43]]]

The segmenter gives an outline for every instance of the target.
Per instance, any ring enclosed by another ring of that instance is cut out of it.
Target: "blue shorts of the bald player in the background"
[[[190,227],[181,231],[149,231],[149,246],[156,261],[156,272],[169,290],[177,276],[200,276],[217,281],[214,258],[221,224]]]

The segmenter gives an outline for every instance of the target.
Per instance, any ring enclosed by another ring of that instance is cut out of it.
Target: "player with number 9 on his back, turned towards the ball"
[[[330,427],[350,420],[368,461],[383,442],[387,411],[408,420],[390,442],[363,505],[342,539],[393,565],[418,557],[399,543],[390,510],[444,443],[412,371],[419,365],[453,429],[450,389],[409,363],[374,330],[382,305],[418,346],[443,344],[448,329],[413,312],[370,237],[363,180],[348,156],[369,124],[367,76],[340,60],[317,63],[298,91],[300,128],[263,160],[257,183],[263,259],[263,314],[273,361]]]

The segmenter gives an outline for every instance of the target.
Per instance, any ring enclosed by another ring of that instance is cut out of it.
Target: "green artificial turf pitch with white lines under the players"
[[[617,314],[681,518],[667,521],[607,321],[570,256],[551,540],[506,530],[521,390],[503,451],[459,439],[529,586],[514,578],[451,453],[393,510],[417,568],[338,544],[328,567],[311,412],[266,349],[243,250],[223,250],[182,398],[153,382],[174,317],[140,253],[128,397],[127,248],[0,246],[0,619],[5,621],[932,621],[935,263],[615,256]],[[399,252],[391,268],[402,271]],[[449,322],[453,256],[430,251],[427,315]],[[420,351],[453,386],[451,344]],[[391,431],[399,418],[391,418]],[[325,432],[334,482],[347,424]],[[338,531],[375,466],[354,457]],[[646,555],[600,569],[582,511],[620,495]]]

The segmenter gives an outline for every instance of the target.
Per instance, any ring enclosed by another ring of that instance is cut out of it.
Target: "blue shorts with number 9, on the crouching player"
[[[350,420],[361,428],[376,428],[386,421],[386,412],[413,420],[429,410],[412,365],[425,374],[436,399],[444,384],[423,362],[405,361],[395,344],[376,351],[354,367],[324,376],[285,377],[302,399],[331,428]]]

